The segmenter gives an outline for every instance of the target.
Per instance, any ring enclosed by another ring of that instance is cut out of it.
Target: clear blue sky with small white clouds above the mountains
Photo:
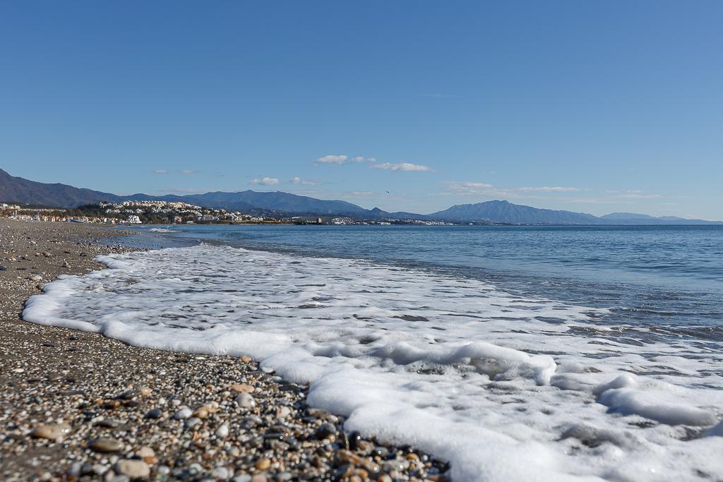
[[[720,1],[6,1],[0,168],[723,218]]]

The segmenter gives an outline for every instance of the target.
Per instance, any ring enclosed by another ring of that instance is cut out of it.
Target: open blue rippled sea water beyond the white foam
[[[521,296],[607,308],[638,344],[723,342],[723,226],[181,225],[139,228],[150,247],[214,242],[368,259],[495,283]],[[150,230],[154,231],[150,231]]]

